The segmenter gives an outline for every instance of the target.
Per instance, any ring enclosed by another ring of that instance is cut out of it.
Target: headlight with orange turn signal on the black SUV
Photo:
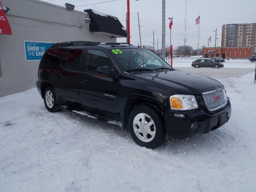
[[[171,109],[192,110],[197,109],[196,98],[193,95],[173,95],[170,96]]]

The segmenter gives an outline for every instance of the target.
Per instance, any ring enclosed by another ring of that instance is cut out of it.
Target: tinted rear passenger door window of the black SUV
[[[82,53],[82,49],[67,50],[62,60],[62,67],[67,70],[79,71]]]

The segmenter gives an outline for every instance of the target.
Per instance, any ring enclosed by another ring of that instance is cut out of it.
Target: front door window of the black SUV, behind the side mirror
[[[112,67],[108,56],[100,50],[88,50],[86,54],[84,72],[96,73],[99,67]]]

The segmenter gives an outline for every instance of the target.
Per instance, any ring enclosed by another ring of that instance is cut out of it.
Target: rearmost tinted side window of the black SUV
[[[46,50],[41,62],[41,68],[57,69],[63,57],[63,51],[60,49],[48,49]]]

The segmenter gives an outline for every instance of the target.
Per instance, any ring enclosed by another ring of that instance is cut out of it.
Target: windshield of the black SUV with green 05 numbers
[[[172,69],[158,55],[147,49],[112,49],[124,70]]]

